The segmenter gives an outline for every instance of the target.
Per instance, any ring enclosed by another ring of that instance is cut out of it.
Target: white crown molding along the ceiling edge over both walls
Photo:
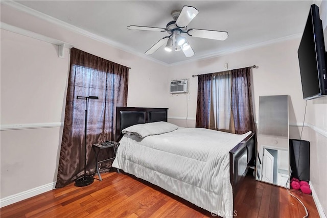
[[[317,2],[321,2],[321,1],[317,1]],[[57,25],[59,27],[62,27],[64,29],[66,29],[66,30],[81,34],[81,35],[86,36],[88,38],[91,38],[91,39],[97,40],[99,42],[108,44],[108,45],[114,47],[115,49],[122,50],[124,52],[136,55],[136,56],[141,57],[143,59],[147,59],[147,60],[156,62],[156,63],[164,65],[164,66],[176,66],[176,65],[181,65],[181,64],[187,64],[187,63],[194,62],[194,61],[200,61],[200,60],[204,60],[204,59],[220,57],[220,56],[223,56],[223,55],[228,55],[228,54],[232,54],[232,53],[236,53],[236,52],[250,50],[250,49],[254,49],[256,47],[261,47],[261,46],[265,46],[265,45],[269,45],[269,44],[273,44],[273,43],[282,42],[282,41],[291,40],[291,39],[301,37],[301,33],[298,33],[298,34],[294,34],[294,35],[290,35],[290,36],[286,36],[286,37],[281,37],[281,38],[277,38],[277,39],[273,39],[273,40],[268,40],[268,41],[265,41],[265,42],[255,43],[255,44],[246,45],[246,46],[240,46],[240,47],[237,47],[235,49],[230,49],[230,50],[224,50],[224,51],[219,51],[219,52],[215,52],[215,53],[205,54],[205,55],[201,55],[201,56],[199,56],[197,58],[188,59],[188,60],[185,60],[185,61],[179,61],[179,62],[176,62],[176,63],[169,64],[169,63],[154,59],[151,56],[145,55],[144,53],[139,53],[139,52],[137,52],[137,51],[135,51],[133,49],[130,49],[130,47],[128,47],[128,46],[126,46],[126,45],[124,45],[122,43],[118,43],[118,42],[115,42],[115,41],[110,40],[108,38],[96,35],[94,33],[90,33],[90,32],[88,32],[86,30],[83,30],[83,29],[78,28],[76,26],[70,25],[69,23],[66,23],[66,22],[64,22],[62,20],[59,20],[57,18],[54,18],[52,16],[49,16],[49,15],[44,14],[42,12],[39,12],[37,10],[31,9],[31,8],[29,8],[27,6],[21,5],[21,4],[17,3],[17,2],[1,1],[1,4],[8,5],[8,6],[12,7],[12,8],[15,8],[16,10],[19,10],[21,12],[25,12],[27,14],[38,17],[38,18],[40,18],[42,20],[53,23],[53,24],[55,24],[55,25]]]

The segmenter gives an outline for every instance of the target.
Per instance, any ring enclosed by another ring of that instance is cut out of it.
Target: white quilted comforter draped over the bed
[[[243,135],[202,128],[124,135],[112,166],[223,217],[232,216],[229,154]]]

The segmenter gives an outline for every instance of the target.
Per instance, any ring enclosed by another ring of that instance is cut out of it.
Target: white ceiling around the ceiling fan
[[[99,37],[137,55],[167,32],[127,30],[127,26],[166,28],[171,12],[184,5],[199,14],[188,28],[228,32],[224,41],[187,36],[195,55],[168,53],[162,46],[149,58],[172,65],[242,50],[272,40],[300,36],[313,1],[15,1]]]

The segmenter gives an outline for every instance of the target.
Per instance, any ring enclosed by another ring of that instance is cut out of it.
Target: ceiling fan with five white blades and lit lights
[[[145,52],[146,55],[153,54],[162,45],[166,44],[165,50],[167,52],[171,52],[174,49],[175,51],[183,51],[186,57],[192,57],[194,51],[188,40],[181,34],[215,40],[225,40],[228,37],[228,33],[224,31],[188,29],[187,26],[198,13],[199,11],[196,8],[192,6],[184,6],[181,11],[176,10],[171,13],[174,20],[167,23],[166,28],[128,26],[127,29],[168,32],[169,36],[165,36],[150,47],[150,49]]]

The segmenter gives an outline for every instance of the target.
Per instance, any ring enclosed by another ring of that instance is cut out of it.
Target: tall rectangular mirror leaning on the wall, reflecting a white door
[[[260,96],[255,178],[286,187],[288,177],[288,95]]]

